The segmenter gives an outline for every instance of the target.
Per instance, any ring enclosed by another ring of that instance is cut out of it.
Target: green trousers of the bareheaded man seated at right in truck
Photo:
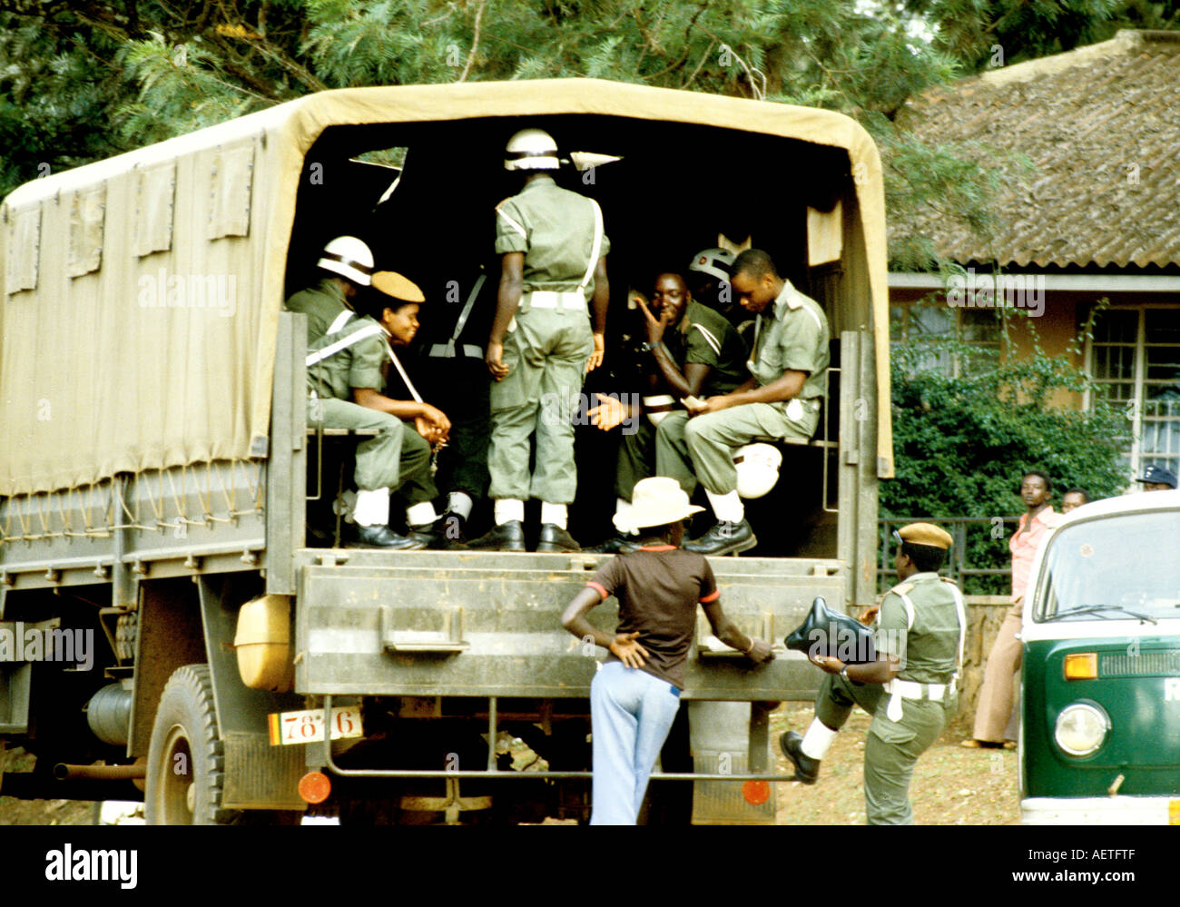
[[[671,476],[689,497],[700,481],[707,491],[728,495],[738,488],[733,451],[753,441],[809,438],[819,410],[808,407],[798,422],[769,403],[747,403],[704,416],[669,413],[656,432],[656,475]]]

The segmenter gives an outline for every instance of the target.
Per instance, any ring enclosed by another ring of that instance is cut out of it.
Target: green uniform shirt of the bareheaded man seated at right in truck
[[[830,334],[827,317],[815,300],[784,280],[771,317],[759,315],[754,331],[750,374],[760,386],[779,380],[787,371],[807,372],[799,399],[824,396]]]

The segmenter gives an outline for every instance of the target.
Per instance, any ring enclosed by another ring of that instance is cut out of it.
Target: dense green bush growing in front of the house
[[[939,350],[964,364],[951,378],[918,368],[932,348],[924,342],[893,351],[896,478],[881,483],[883,517],[985,517],[988,523],[968,527],[966,565],[1007,568],[1011,524],[999,518],[1024,513],[1018,487],[1028,470],[1051,477],[1058,510],[1061,494],[1074,485],[1092,500],[1121,494],[1128,423],[1102,402],[1090,411],[1053,405],[1056,391],[1087,389],[1088,378],[1067,357],[1050,358],[1036,344],[1029,359],[968,366],[970,346],[942,342]],[[1010,588],[1005,576],[965,585],[969,594]]]

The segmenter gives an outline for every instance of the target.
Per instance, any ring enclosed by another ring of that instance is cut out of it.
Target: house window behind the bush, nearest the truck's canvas
[[[958,378],[969,368],[994,368],[999,364],[1003,335],[1001,315],[994,308],[962,308],[927,300],[890,305],[890,340],[894,346],[904,344],[920,351],[919,371]],[[970,353],[956,355],[948,346],[950,340],[966,344]]]

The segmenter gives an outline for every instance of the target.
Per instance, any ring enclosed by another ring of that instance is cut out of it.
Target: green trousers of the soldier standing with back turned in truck
[[[504,339],[505,378],[492,384],[492,442],[487,455],[493,500],[572,503],[573,415],[594,350],[585,311],[518,312]],[[536,433],[536,469],[529,474],[529,441]]]

